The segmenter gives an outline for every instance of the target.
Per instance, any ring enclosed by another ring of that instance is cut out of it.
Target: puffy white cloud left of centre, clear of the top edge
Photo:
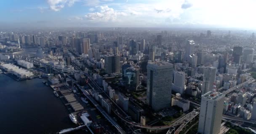
[[[118,21],[119,16],[124,16],[126,15],[123,12],[119,12],[114,10],[113,8],[109,8],[107,5],[105,6],[99,6],[96,7],[99,8],[99,12],[94,12],[94,13],[88,13],[85,15],[85,18],[91,21]]]

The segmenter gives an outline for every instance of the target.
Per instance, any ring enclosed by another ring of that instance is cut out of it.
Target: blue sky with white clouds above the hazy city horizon
[[[256,28],[256,0],[0,0],[0,25]]]

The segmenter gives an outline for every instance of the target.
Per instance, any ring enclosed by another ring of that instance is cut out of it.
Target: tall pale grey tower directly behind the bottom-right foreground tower
[[[202,95],[213,90],[216,77],[216,67],[207,67],[204,70]]]

